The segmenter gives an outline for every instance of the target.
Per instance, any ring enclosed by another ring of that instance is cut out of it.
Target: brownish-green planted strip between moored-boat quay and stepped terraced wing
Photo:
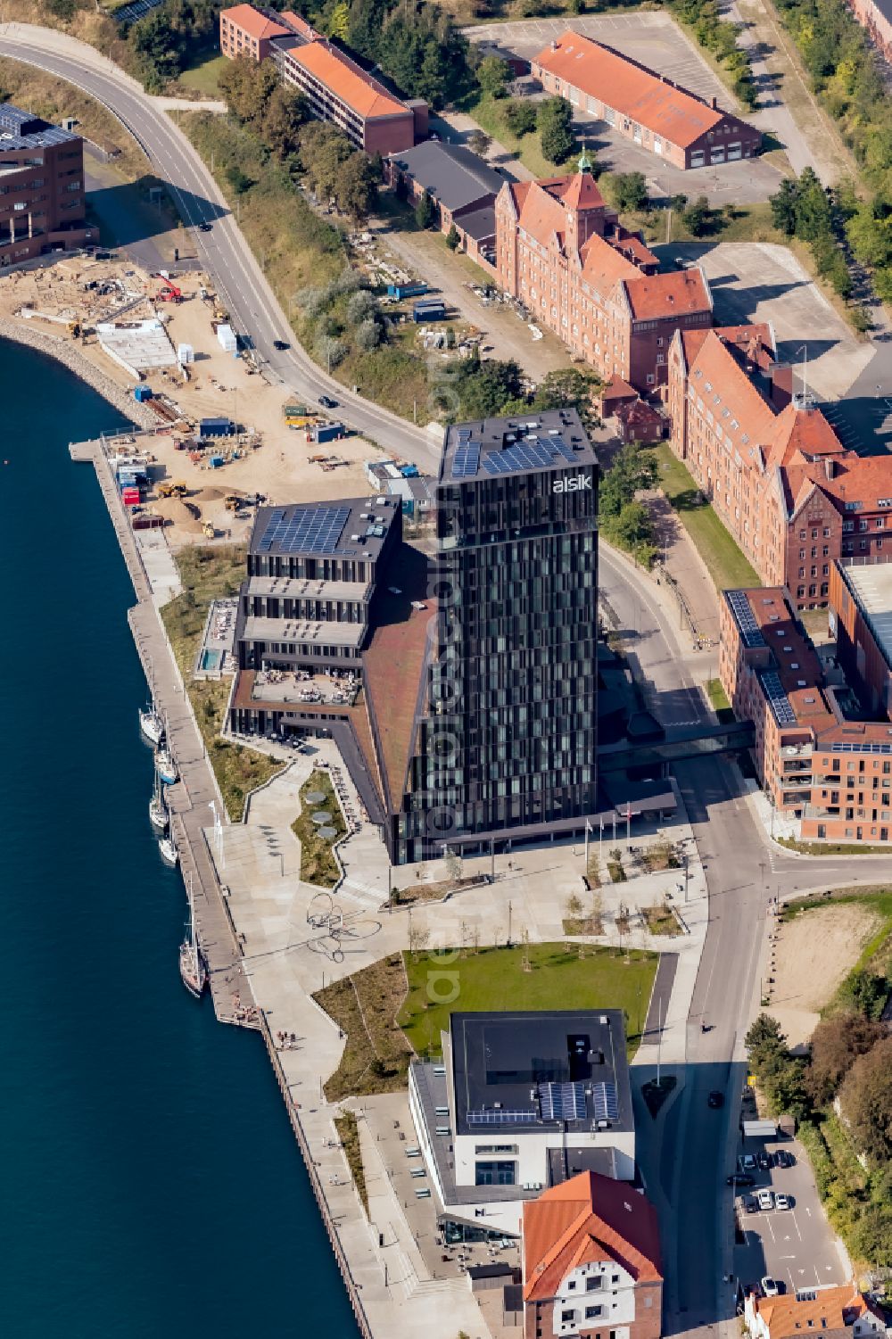
[[[208,747],[226,813],[234,822],[240,822],[245,797],[281,771],[281,763],[267,754],[220,738],[230,680],[193,679],[192,671],[210,601],[236,593],[245,574],[245,550],[241,545],[193,545],[177,554],[177,566],[183,592],[162,608],[161,617]]]

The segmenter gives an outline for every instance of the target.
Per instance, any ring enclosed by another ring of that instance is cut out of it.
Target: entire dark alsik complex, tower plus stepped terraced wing
[[[232,728],[335,738],[399,864],[580,832],[597,811],[597,479],[560,410],[450,428],[434,552],[406,542],[399,498],[261,507]]]

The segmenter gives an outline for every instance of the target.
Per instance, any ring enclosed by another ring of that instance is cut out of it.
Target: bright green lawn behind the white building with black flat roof
[[[659,955],[617,955],[591,945],[583,952],[580,957],[577,945],[565,944],[484,948],[454,963],[447,959],[447,965],[437,953],[407,953],[408,995],[396,1022],[415,1052],[425,1055],[439,1054],[439,1034],[455,1010],[621,1008],[631,1058],[647,1016]],[[529,971],[524,969],[525,957]],[[447,987],[457,990],[455,999],[438,1003]]]

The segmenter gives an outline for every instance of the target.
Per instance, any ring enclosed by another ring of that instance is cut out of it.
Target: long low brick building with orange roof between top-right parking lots
[[[569,29],[530,62],[549,94],[560,94],[675,167],[704,167],[751,158],[761,133],[620,55],[601,42]]]

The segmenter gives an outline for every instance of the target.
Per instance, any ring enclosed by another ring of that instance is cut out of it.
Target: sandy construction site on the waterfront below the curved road
[[[363,466],[383,459],[382,450],[358,437],[317,445],[303,427],[288,427],[283,410],[293,396],[271,387],[246,356],[234,356],[221,345],[217,325],[225,324],[225,312],[206,277],[179,274],[174,283],[182,299],[163,301],[163,277],[126,261],[88,257],[56,258],[0,279],[0,317],[76,348],[130,394],[137,384],[151,388],[153,399],[145,407],[154,407],[158,432],[141,437],[139,450],[154,457],[153,483],[182,482],[188,490],[185,498],[162,499],[150,493],[145,499],[150,511],[167,521],[165,533],[171,545],[202,538],[205,522],[220,538],[244,537],[253,509],[233,517],[225,507],[228,494],[301,502],[367,493]],[[158,321],[162,329],[151,329],[149,343],[141,327]],[[115,335],[104,339],[126,358],[134,358],[134,351],[138,355],[143,345],[146,359],[158,358],[159,349],[163,358],[169,345],[170,366],[150,362],[141,376],[129,372],[102,347],[98,328],[103,325],[115,327]],[[177,364],[182,344],[194,355],[185,370]],[[319,412],[324,422],[324,411]],[[336,411],[331,416],[336,418]],[[240,432],[206,445],[197,426],[209,418],[232,419]],[[212,457],[224,463],[212,467]]]

